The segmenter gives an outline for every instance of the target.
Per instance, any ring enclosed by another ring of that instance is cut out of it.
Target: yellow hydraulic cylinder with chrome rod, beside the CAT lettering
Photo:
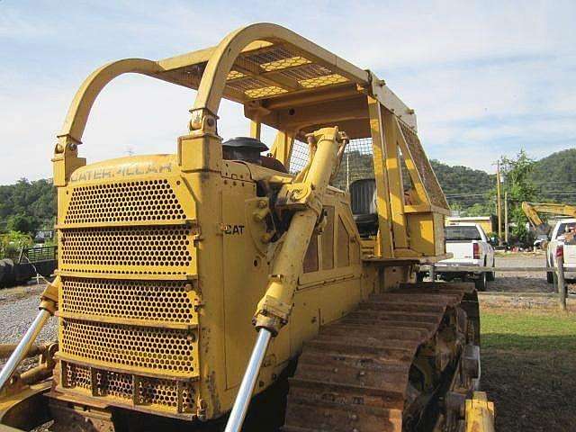
[[[320,220],[324,193],[338,163],[338,150],[347,143],[338,128],[317,130],[308,139],[311,145],[308,166],[292,184],[285,184],[278,195],[277,205],[294,211],[293,218],[275,259],[266,293],[257,305],[254,324],[258,338],[230,412],[226,432],[238,432],[242,428],[270,339],[288,322],[306,250]]]

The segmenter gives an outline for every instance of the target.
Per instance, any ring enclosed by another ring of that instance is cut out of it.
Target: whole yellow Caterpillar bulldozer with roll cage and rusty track
[[[129,73],[196,90],[189,132],[173,154],[87,164],[94,100]],[[220,137],[222,98],[249,137]],[[446,258],[446,198],[373,72],[271,23],[114,61],[52,162],[57,277],[4,347],[6,430],[492,430],[473,284],[416,283]],[[58,340],[35,345],[52,315]]]

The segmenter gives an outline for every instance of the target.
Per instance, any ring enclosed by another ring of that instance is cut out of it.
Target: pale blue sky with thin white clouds
[[[119,58],[166,58],[217,44],[247,23],[284,25],[369,68],[416,110],[428,153],[489,172],[521,148],[576,147],[576,2],[0,0],[0,184],[51,176],[76,89]],[[195,92],[121,76],[100,94],[88,163],[175,152]],[[235,103],[220,135],[247,135]]]

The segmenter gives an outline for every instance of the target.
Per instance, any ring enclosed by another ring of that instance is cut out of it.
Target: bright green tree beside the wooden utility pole
[[[520,150],[516,157],[501,157],[500,171],[504,177],[504,191],[508,192],[509,222],[512,238],[523,246],[529,246],[532,234],[527,229],[527,217],[522,210],[522,202],[533,202],[538,199],[538,189],[532,181],[532,172],[536,161],[527,157],[526,151]]]

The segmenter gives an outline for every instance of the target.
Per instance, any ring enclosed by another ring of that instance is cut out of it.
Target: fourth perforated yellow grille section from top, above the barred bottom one
[[[112,367],[148,369],[152,373],[194,376],[195,334],[103,322],[62,320],[64,355]]]

